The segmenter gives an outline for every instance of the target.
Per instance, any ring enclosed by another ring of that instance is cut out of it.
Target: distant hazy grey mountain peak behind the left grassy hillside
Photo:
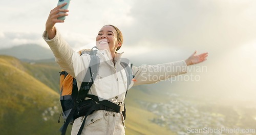
[[[37,44],[23,44],[8,49],[1,49],[0,54],[29,60],[54,58],[50,49],[43,48]]]

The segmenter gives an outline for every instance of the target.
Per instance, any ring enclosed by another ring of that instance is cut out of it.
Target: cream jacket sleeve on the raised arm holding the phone
[[[91,60],[90,56],[88,54],[80,56],[80,54],[75,52],[62,38],[57,29],[53,39],[49,39],[46,31],[43,33],[42,37],[49,44],[49,47],[55,56],[55,61],[60,68],[76,78],[78,82],[81,82],[89,66]],[[80,86],[78,86],[78,88],[79,87]]]

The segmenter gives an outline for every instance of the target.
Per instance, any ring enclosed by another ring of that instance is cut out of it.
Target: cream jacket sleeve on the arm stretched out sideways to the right
[[[187,73],[187,65],[184,60],[157,64],[133,66],[133,86],[141,84],[157,83],[167,78]]]

